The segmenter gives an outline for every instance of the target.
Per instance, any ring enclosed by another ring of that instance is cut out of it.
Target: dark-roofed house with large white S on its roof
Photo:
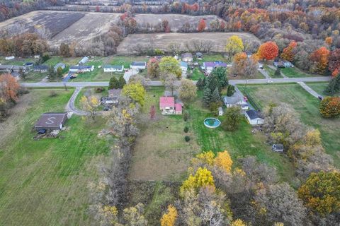
[[[67,112],[48,112],[40,116],[40,119],[35,123],[34,129],[39,131],[45,130],[60,130],[67,121]]]

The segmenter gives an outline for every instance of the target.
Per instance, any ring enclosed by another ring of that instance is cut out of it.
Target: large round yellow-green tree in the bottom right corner
[[[340,173],[312,173],[298,193],[305,205],[322,216],[340,210]]]

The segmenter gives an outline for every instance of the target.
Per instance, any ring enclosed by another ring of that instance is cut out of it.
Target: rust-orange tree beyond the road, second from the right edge
[[[329,50],[326,47],[320,47],[310,54],[310,59],[314,62],[310,70],[316,73],[324,73],[328,66]]]

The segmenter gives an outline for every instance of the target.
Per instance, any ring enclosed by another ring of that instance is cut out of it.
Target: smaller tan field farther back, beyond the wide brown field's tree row
[[[135,16],[137,23],[140,25],[157,25],[157,23],[162,22],[162,20],[168,20],[170,24],[171,31],[176,32],[182,27],[183,23],[190,23],[191,25],[198,24],[201,18],[205,18],[205,23],[207,28],[209,28],[210,22],[217,19],[215,15],[205,15],[205,16],[188,16],[181,14],[137,14]]]

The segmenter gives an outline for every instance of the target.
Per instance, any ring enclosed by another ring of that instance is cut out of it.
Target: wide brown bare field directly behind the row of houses
[[[186,42],[191,40],[211,40],[214,42],[213,52],[225,52],[225,42],[232,35],[238,35],[244,40],[260,40],[249,33],[244,32],[203,32],[203,33],[157,33],[157,34],[134,34],[125,37],[123,42],[118,46],[118,54],[129,54],[131,47],[135,44],[149,46],[152,42],[153,47],[157,49],[167,50],[169,43],[181,43],[181,50],[186,51]]]

